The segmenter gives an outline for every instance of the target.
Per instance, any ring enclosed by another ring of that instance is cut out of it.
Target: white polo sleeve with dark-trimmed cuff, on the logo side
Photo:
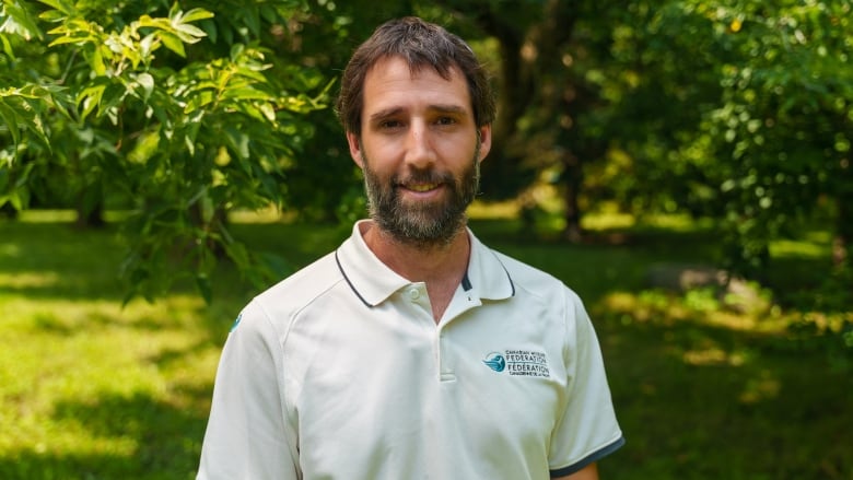
[[[565,407],[551,435],[552,477],[574,473],[624,444],[595,329],[581,300],[566,291]]]

